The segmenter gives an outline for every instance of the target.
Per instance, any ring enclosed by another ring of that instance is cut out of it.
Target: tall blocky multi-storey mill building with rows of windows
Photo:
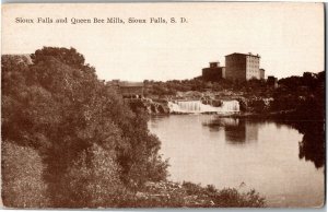
[[[225,76],[233,81],[261,79],[265,70],[260,71],[260,56],[234,52],[225,56]]]

